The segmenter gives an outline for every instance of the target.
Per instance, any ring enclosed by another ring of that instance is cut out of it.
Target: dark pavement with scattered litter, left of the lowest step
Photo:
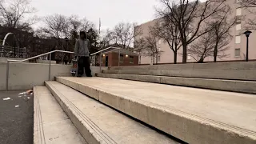
[[[0,143],[33,143],[33,95],[18,97],[23,90],[0,91]],[[3,100],[10,98],[10,100]],[[15,107],[18,106],[18,107]]]

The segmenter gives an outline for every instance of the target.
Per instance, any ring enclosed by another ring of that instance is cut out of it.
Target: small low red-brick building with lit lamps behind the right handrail
[[[106,50],[102,53],[102,66],[118,66],[118,49]],[[138,54],[120,49],[120,66],[138,66]]]

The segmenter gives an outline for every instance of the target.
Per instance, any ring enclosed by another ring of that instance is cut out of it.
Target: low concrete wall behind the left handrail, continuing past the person
[[[51,80],[56,76],[71,76],[70,65],[52,65]],[[98,73],[99,67],[91,67],[92,74]],[[102,70],[106,70],[102,67]],[[28,90],[33,86],[43,86],[49,77],[49,65],[42,63],[10,62],[8,90]],[[0,62],[0,90],[6,90],[6,62]]]

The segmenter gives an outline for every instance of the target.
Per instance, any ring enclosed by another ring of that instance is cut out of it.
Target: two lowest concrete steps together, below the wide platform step
[[[184,143],[60,82],[36,86],[34,93],[34,143]]]

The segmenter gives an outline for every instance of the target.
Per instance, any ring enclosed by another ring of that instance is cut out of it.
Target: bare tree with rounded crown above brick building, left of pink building
[[[113,38],[115,42],[122,46],[123,49],[129,49],[134,42],[134,38],[142,33],[142,30],[134,30],[136,24],[120,22],[114,26]]]

